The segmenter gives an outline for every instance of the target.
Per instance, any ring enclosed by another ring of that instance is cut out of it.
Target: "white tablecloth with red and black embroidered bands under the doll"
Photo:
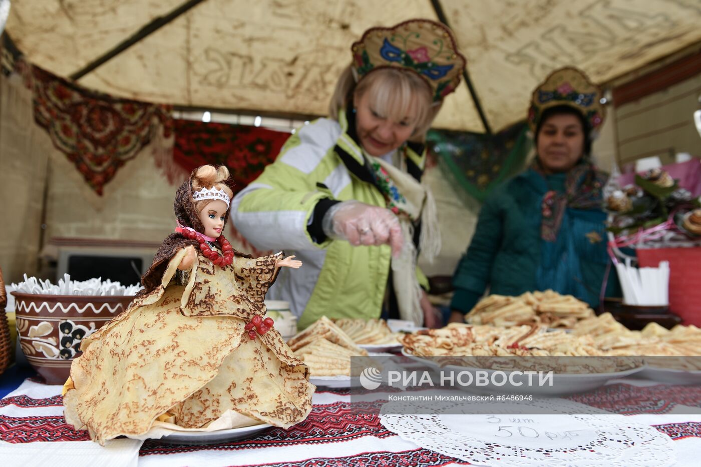
[[[66,424],[60,390],[60,386],[44,386],[28,379],[0,400],[3,467],[20,461],[22,467],[44,466],[48,465],[46,459],[52,459],[52,465],[71,467],[86,465],[86,459],[100,467],[468,465],[402,440],[386,429],[376,415],[382,402],[351,403],[347,389],[323,387],[314,394],[309,417],[287,430],[271,428],[246,440],[202,446],[168,445],[157,440],[139,446],[140,442],[118,440],[123,441],[121,445],[101,452],[85,431],[73,431]],[[701,407],[701,388],[625,379],[569,399],[655,426],[674,440],[676,466],[698,465],[701,415],[679,412],[685,412],[682,405]]]

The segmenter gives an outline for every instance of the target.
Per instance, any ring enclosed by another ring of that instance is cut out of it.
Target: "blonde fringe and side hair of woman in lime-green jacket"
[[[416,106],[416,125],[409,140],[423,142],[426,132],[438,114],[441,104],[433,104],[430,88],[418,74],[405,69],[380,68],[355,83],[353,67],[348,65],[336,83],[334,95],[329,103],[329,116],[338,121],[341,109],[353,104],[353,97],[360,99],[369,93],[374,110],[393,121],[402,121],[409,109]]]

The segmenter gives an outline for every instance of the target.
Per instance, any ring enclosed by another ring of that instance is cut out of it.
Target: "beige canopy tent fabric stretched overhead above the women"
[[[30,62],[111,95],[325,115],[336,78],[351,62],[351,43],[365,29],[418,17],[442,20],[468,58],[477,100],[463,81],[435,127],[475,133],[524,119],[531,90],[552,69],[576,65],[605,83],[701,41],[697,0],[183,2],[15,1],[6,29]],[[133,46],[76,74],[184,6]]]

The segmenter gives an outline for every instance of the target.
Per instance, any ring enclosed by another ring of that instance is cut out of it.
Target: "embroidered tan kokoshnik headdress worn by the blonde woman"
[[[433,102],[442,101],[458,87],[465,67],[465,57],[458,52],[451,30],[431,20],[373,27],[351,50],[357,81],[376,69],[407,69],[428,83]]]

